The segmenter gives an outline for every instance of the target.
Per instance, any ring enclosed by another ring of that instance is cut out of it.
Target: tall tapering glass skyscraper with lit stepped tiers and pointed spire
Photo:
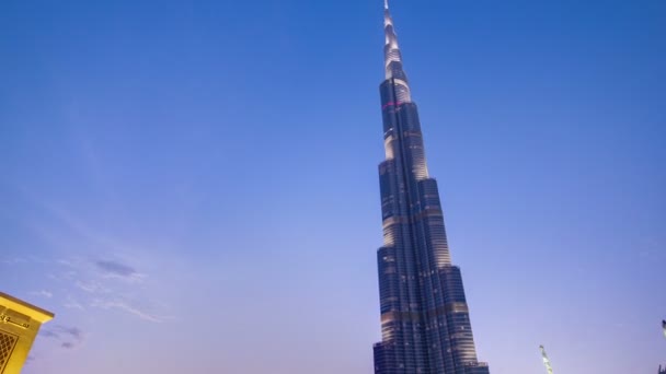
[[[377,253],[382,340],[378,374],[489,374],[476,360],[460,269],[451,265],[437,182],[384,0],[380,85],[386,160],[379,165],[383,246]]]

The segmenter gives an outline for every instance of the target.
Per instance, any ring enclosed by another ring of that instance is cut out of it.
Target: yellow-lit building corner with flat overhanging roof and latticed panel
[[[0,292],[0,374],[19,374],[42,324],[54,314]]]

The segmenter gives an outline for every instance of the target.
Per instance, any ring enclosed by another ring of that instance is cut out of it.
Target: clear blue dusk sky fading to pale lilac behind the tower
[[[381,1],[4,1],[0,290],[24,373],[370,373]],[[666,363],[666,3],[394,21],[495,374]]]

